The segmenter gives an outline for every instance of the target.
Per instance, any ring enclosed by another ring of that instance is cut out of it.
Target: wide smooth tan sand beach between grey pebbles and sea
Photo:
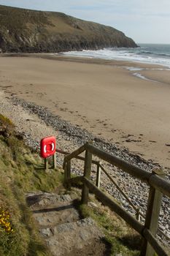
[[[77,127],[170,167],[169,70],[123,61],[37,56],[1,56],[0,86],[9,97],[45,106]],[[139,74],[148,80],[127,67],[147,68]]]

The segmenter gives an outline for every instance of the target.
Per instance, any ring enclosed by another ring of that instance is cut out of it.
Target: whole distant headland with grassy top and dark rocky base
[[[109,26],[61,12],[40,12],[0,5],[2,52],[61,52],[136,47],[133,39]]]

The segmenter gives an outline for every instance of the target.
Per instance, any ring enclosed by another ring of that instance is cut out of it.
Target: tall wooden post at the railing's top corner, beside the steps
[[[90,142],[92,143],[92,142]],[[84,177],[90,179],[91,173],[91,162],[92,162],[92,154],[86,150],[85,151],[85,166],[84,166]],[[83,184],[82,185],[82,203],[87,205],[88,204],[88,187]]]

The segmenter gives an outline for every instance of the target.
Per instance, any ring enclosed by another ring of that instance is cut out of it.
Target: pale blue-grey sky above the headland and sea
[[[170,0],[0,0],[0,4],[64,12],[113,26],[138,43],[170,44]]]

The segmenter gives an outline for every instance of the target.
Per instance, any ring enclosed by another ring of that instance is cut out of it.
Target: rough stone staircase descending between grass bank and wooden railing
[[[80,218],[75,195],[30,193],[27,203],[51,255],[109,255],[104,234],[93,219]]]

